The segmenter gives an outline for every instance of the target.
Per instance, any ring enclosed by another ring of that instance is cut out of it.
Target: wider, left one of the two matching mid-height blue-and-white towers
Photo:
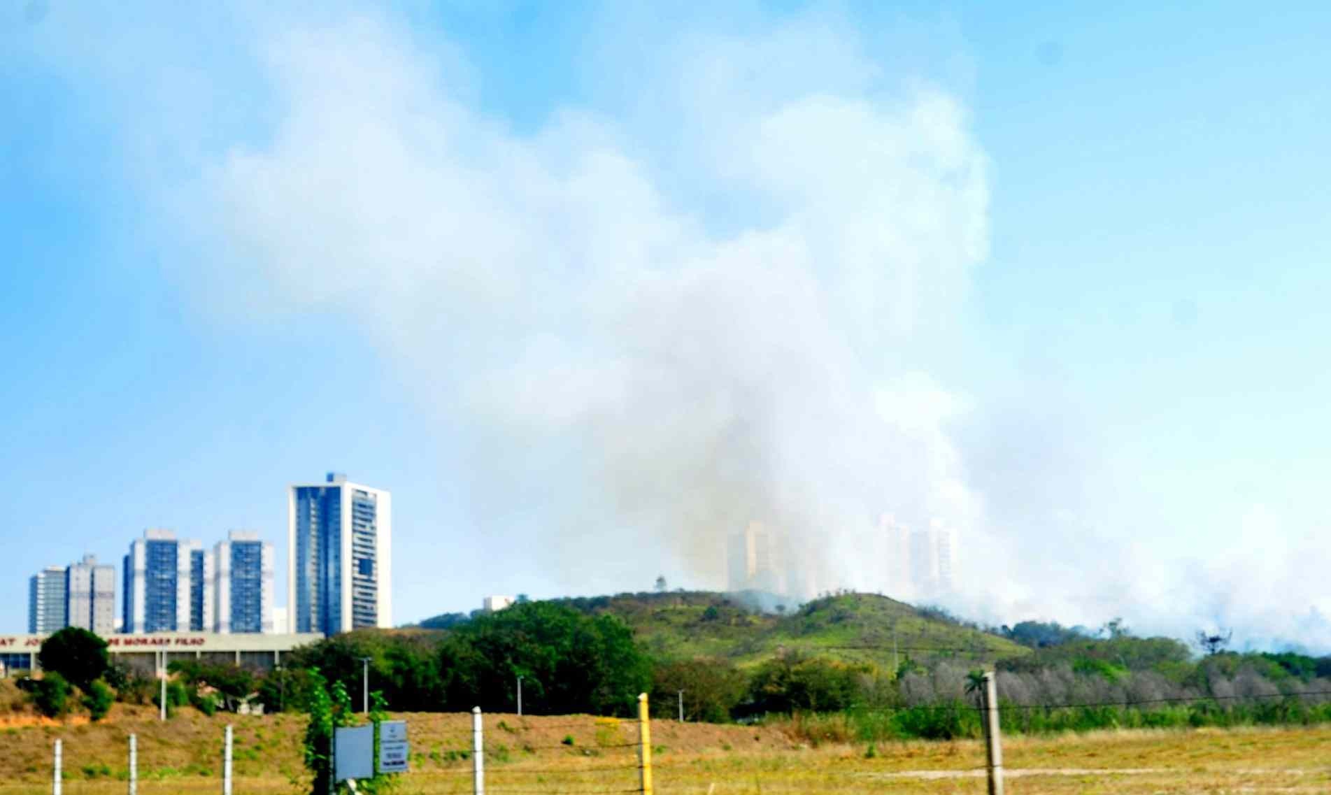
[[[144,530],[124,558],[121,631],[205,631],[212,623],[212,554],[170,530]]]

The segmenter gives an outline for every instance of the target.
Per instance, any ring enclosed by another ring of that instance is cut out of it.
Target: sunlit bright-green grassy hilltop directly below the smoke
[[[898,657],[993,662],[1029,650],[1004,638],[921,614],[873,594],[817,599],[789,615],[755,613],[727,594],[622,594],[570,599],[591,613],[610,613],[634,627],[655,655],[719,657],[740,664],[767,659],[780,649],[890,667]],[[715,618],[705,614],[715,607]],[[845,649],[869,647],[869,649]]]

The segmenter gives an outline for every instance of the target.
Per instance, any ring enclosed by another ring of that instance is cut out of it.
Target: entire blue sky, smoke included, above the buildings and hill
[[[845,563],[856,511],[941,514],[1008,555],[965,569],[985,619],[1331,649],[1328,33],[1315,4],[12,8],[0,627],[148,526],[281,562],[285,486],[337,469],[394,493],[399,622],[719,586],[708,545],[781,494],[828,587],[894,593]],[[833,443],[873,396],[901,414]],[[735,438],[767,474],[697,454]]]

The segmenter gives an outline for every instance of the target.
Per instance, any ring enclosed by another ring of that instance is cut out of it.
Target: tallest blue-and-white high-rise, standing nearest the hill
[[[287,493],[290,629],[333,635],[393,626],[393,497],[329,473]]]

